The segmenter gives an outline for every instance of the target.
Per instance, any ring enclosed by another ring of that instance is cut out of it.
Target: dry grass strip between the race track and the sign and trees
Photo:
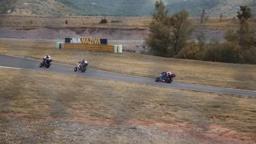
[[[117,73],[156,77],[161,71],[172,71],[174,81],[201,85],[256,90],[256,65],[192,61],[163,58],[138,53],[109,53],[56,49],[45,40],[0,40],[0,53],[42,59],[50,55],[54,62],[74,65],[85,58],[89,68]]]

